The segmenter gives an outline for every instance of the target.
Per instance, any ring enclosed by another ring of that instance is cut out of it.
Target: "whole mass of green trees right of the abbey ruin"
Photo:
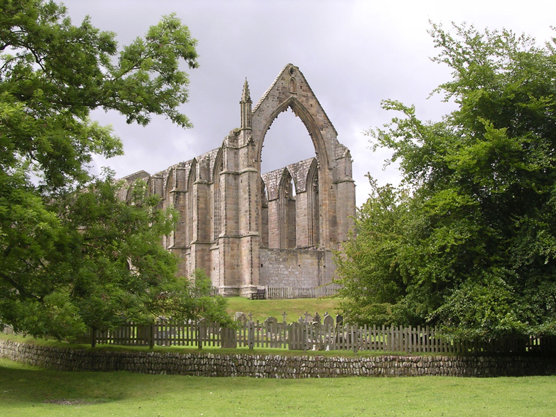
[[[556,49],[511,31],[430,31],[457,110],[422,122],[413,107],[375,146],[402,186],[359,211],[338,272],[359,322],[441,325],[460,339],[556,333]]]

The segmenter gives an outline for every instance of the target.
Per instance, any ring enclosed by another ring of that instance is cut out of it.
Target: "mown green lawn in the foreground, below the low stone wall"
[[[555,415],[556,376],[338,379],[64,373],[0,359],[2,416]]]

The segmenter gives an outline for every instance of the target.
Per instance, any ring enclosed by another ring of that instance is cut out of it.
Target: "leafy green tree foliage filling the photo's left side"
[[[122,154],[90,120],[96,108],[190,126],[178,106],[196,41],[170,15],[118,52],[114,33],[65,13],[54,1],[0,0],[0,325],[63,337],[157,313],[224,320],[220,304],[192,304],[202,280],[174,277],[160,240],[175,213],[140,183],[125,204],[110,173],[88,172],[93,154]]]

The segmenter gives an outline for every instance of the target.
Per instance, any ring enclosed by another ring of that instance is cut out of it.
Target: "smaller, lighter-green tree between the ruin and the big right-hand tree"
[[[391,325],[395,322],[392,306],[406,294],[397,254],[407,196],[368,178],[372,193],[359,208],[350,239],[336,256],[336,272],[344,278],[341,309],[348,322]]]

